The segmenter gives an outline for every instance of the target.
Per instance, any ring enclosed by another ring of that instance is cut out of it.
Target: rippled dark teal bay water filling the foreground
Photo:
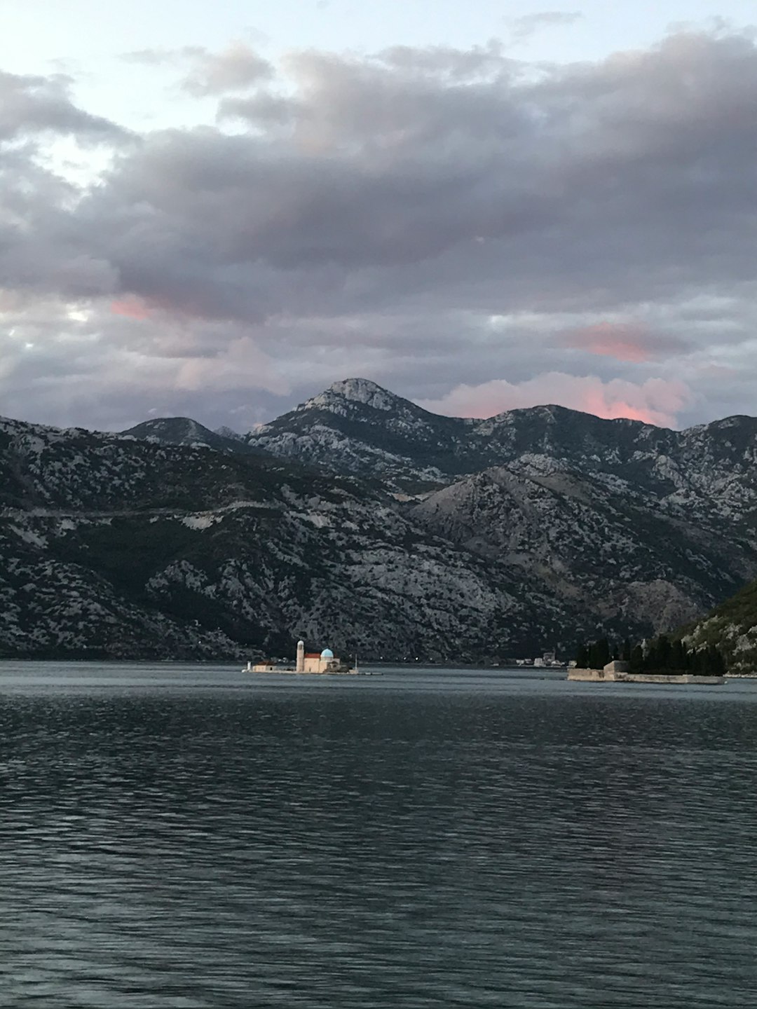
[[[757,1005],[757,682],[0,664],[0,1005]]]

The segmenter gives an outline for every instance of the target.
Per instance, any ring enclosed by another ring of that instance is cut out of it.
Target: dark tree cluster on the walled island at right
[[[628,638],[622,645],[611,643],[608,638],[582,643],[576,650],[575,666],[604,669],[614,659],[628,662],[632,673],[723,676],[727,671],[723,653],[715,645],[689,649],[680,639],[670,639],[664,634],[633,647]]]

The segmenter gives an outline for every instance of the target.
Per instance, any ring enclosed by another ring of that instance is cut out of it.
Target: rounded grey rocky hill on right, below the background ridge
[[[412,508],[436,535],[539,577],[598,620],[668,631],[757,571],[757,549],[574,474],[484,470]],[[711,517],[712,518],[712,517]]]

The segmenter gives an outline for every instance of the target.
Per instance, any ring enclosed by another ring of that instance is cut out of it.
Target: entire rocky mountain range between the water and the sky
[[[366,379],[241,436],[0,422],[6,655],[491,659],[757,577],[757,420],[442,417]]]

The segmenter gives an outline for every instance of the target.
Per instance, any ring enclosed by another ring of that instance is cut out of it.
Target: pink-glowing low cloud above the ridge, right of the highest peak
[[[549,371],[518,383],[497,378],[480,385],[457,385],[441,400],[427,400],[420,406],[453,417],[493,417],[506,410],[556,404],[608,420],[627,417],[674,428],[678,413],[691,399],[688,386],[677,379],[604,382],[597,375]]]

